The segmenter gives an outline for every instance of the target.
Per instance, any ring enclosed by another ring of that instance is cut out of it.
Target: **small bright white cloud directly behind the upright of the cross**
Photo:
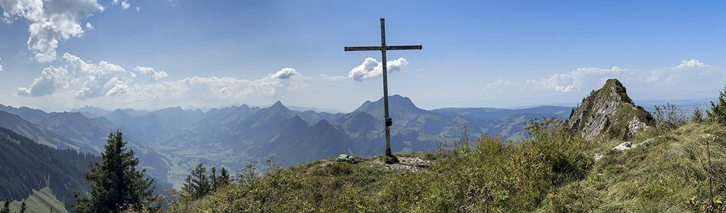
[[[406,61],[406,58],[398,58],[393,61],[388,61],[386,63],[386,69],[388,69],[388,73],[404,71],[407,65],[408,61]],[[365,58],[363,64],[356,66],[348,73],[348,77],[358,82],[380,76],[383,76],[383,63],[378,62],[375,58]]]

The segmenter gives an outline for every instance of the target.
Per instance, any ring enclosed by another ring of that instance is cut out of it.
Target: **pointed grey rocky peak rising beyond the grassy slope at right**
[[[587,140],[598,136],[627,139],[653,125],[653,116],[628,97],[618,79],[608,79],[603,88],[582,100],[568,120],[568,126]]]

